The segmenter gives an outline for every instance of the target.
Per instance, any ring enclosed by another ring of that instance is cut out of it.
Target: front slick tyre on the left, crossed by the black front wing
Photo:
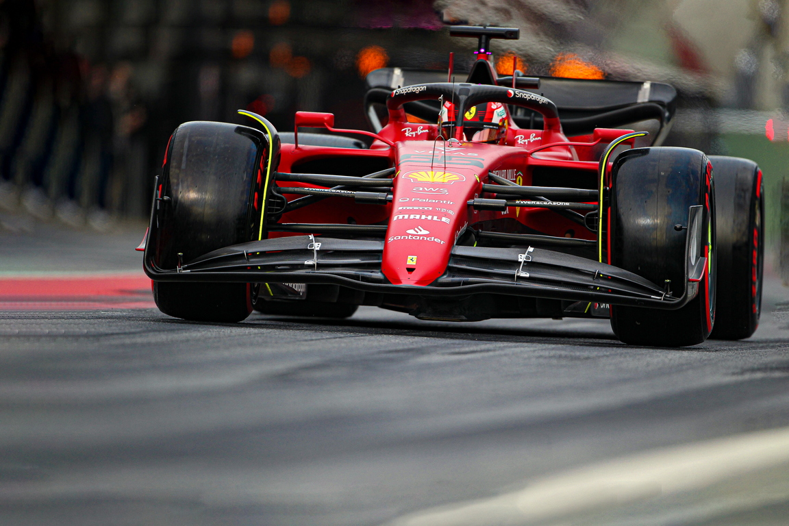
[[[155,263],[174,269],[217,248],[250,241],[260,153],[256,131],[188,122],[167,148],[155,201]],[[157,211],[158,207],[158,211]],[[239,322],[252,312],[247,283],[154,282],[159,310],[200,322]]]

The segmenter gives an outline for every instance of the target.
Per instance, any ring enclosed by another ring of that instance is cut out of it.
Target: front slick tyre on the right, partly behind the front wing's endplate
[[[697,296],[674,311],[611,307],[611,328],[630,345],[682,347],[705,341],[715,323],[716,232],[712,165],[701,151],[677,147],[624,151],[611,173],[611,264],[679,295],[685,289],[689,208],[701,205],[707,258]],[[680,226],[679,229],[675,226]],[[671,281],[667,281],[671,280]]]

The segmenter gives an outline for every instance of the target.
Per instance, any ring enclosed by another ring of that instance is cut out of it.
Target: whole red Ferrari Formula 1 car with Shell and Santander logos
[[[486,49],[517,29],[451,33],[479,39],[466,81],[370,73],[376,132],[308,112],[293,133],[248,111],[250,126],[179,126],[144,242],[161,311],[602,317],[635,345],[753,334],[753,162],[658,147],[675,110],[667,84],[502,78]],[[310,127],[332,133],[298,132]]]

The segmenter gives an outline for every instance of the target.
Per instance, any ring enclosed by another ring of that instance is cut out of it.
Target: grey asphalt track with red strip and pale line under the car
[[[0,524],[789,524],[776,278],[753,338],[688,349],[376,308],[188,323],[152,308],[141,234],[0,234]]]

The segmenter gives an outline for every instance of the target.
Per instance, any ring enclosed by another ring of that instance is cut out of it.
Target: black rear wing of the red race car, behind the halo
[[[463,76],[460,73],[458,76]],[[528,79],[528,81],[527,81]],[[535,87],[533,80],[538,79]],[[382,128],[383,104],[391,91],[413,84],[446,82],[447,72],[381,68],[367,76],[365,112],[376,131]],[[525,82],[518,82],[524,80]],[[458,80],[464,82],[465,78]],[[500,85],[511,85],[512,77],[499,78]],[[567,136],[592,133],[595,128],[632,129],[649,132],[647,144],[660,145],[673,124],[677,91],[660,82],[630,82],[623,80],[582,80],[552,76],[518,77],[518,88],[532,91],[551,99],[559,109],[559,120]],[[523,85],[521,85],[523,84]],[[413,111],[406,111],[426,121],[436,121],[438,106],[428,103],[411,103]],[[510,108],[513,120],[520,128],[542,129],[542,116],[536,112]]]

